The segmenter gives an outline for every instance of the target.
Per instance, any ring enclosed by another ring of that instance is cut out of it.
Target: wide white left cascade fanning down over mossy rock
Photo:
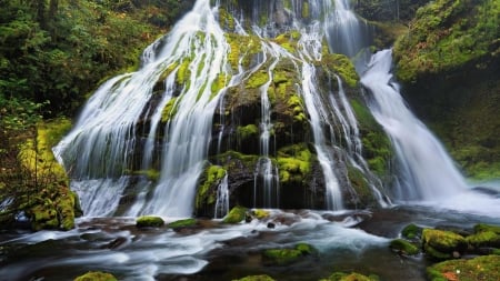
[[[211,139],[213,112],[222,92],[212,92],[212,84],[220,76],[227,76],[227,53],[226,38],[210,1],[199,0],[168,36],[144,51],[137,72],[109,80],[92,96],[72,131],[54,148],[72,178],[100,182],[89,187],[92,192],[80,194],[82,201],[97,201],[96,205],[100,205],[86,209],[86,214],[108,214],[117,208],[117,202],[110,204],[106,194],[113,193],[112,200],[117,201],[129,181],[110,179],[128,178],[128,171],[137,167],[132,162],[134,149],[143,147],[139,167],[151,167],[153,134],[166,104],[179,91],[170,113],[167,112],[170,119],[159,148],[163,151],[160,179],[152,191],[137,187],[140,200],[128,214],[191,215],[196,183]],[[167,76],[166,92],[154,106],[153,88],[162,76]],[[174,91],[174,79],[187,82]],[[144,111],[151,106],[156,108]],[[146,144],[139,145],[143,140],[137,138],[137,128],[148,117],[150,133]]]

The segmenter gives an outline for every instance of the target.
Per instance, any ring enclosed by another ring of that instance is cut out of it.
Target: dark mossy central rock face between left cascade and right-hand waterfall
[[[290,7],[288,1],[257,1],[251,6],[247,1],[221,1],[219,22],[230,46],[229,73],[243,71],[247,74],[224,89],[220,107],[216,110],[209,158],[197,189],[196,215],[214,217],[218,192],[224,178],[231,207],[327,208],[326,180],[301,89],[302,70],[300,62],[293,58],[301,56],[298,52],[301,33],[290,30],[289,26],[292,16],[308,21],[308,1],[301,1],[298,7]],[[253,32],[241,34],[233,14],[243,19],[240,24],[244,29],[251,30],[252,24],[264,26],[269,39]],[[257,22],[256,18],[259,18]],[[270,22],[274,24],[270,26]],[[269,48],[272,46],[281,47],[289,54],[271,56]],[[341,120],[336,120],[333,112],[324,117],[331,120],[331,128],[327,128],[328,124],[322,128],[328,134],[327,144],[331,145],[328,153],[333,154],[336,161],[334,170],[344,204],[348,208],[378,205],[380,199],[376,198],[372,189],[382,189],[380,183],[390,180],[390,142],[364,104],[353,64],[342,54],[329,53],[326,44],[321,48],[321,59],[310,60],[318,80],[318,94],[323,103],[330,103],[331,99],[340,99],[339,91],[344,91],[348,107],[359,126],[356,129],[359,130],[358,144],[351,143],[356,141],[351,137],[342,136],[346,129]],[[176,89],[188,82],[186,77],[189,71],[182,66],[179,68]],[[169,70],[160,77],[156,91],[164,90],[162,81],[168,74]],[[212,92],[220,91],[231,79],[234,78],[219,77]],[[159,128],[176,118],[179,110],[176,99],[164,107]],[[267,113],[262,111],[264,102],[269,102]],[[332,108],[330,110],[333,111]],[[264,123],[266,118],[269,118],[269,124]],[[149,127],[147,119],[143,127]],[[269,131],[264,132],[263,127],[269,127]],[[264,133],[268,134],[267,142],[263,140]],[[353,155],[347,151],[356,145],[361,150],[357,157],[367,161],[364,170],[348,160]],[[272,171],[266,173],[263,170],[268,165]]]

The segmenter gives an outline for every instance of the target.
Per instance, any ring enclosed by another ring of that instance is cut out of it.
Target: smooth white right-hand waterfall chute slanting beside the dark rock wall
[[[392,80],[391,50],[376,53],[361,83],[371,92],[369,108],[390,136],[398,157],[398,200],[444,199],[467,184],[432,133],[407,108]]]

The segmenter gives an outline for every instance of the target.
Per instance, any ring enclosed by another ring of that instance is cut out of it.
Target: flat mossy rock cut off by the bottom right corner
[[[449,280],[500,280],[500,255],[483,255],[470,260],[450,260],[427,269],[431,281]]]

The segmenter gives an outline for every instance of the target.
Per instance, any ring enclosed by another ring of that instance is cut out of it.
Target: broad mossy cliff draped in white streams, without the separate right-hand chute
[[[340,0],[198,0],[136,72],[96,91],[54,149],[86,214],[407,199],[391,189],[393,159],[407,155],[350,60],[368,47],[367,28]]]

